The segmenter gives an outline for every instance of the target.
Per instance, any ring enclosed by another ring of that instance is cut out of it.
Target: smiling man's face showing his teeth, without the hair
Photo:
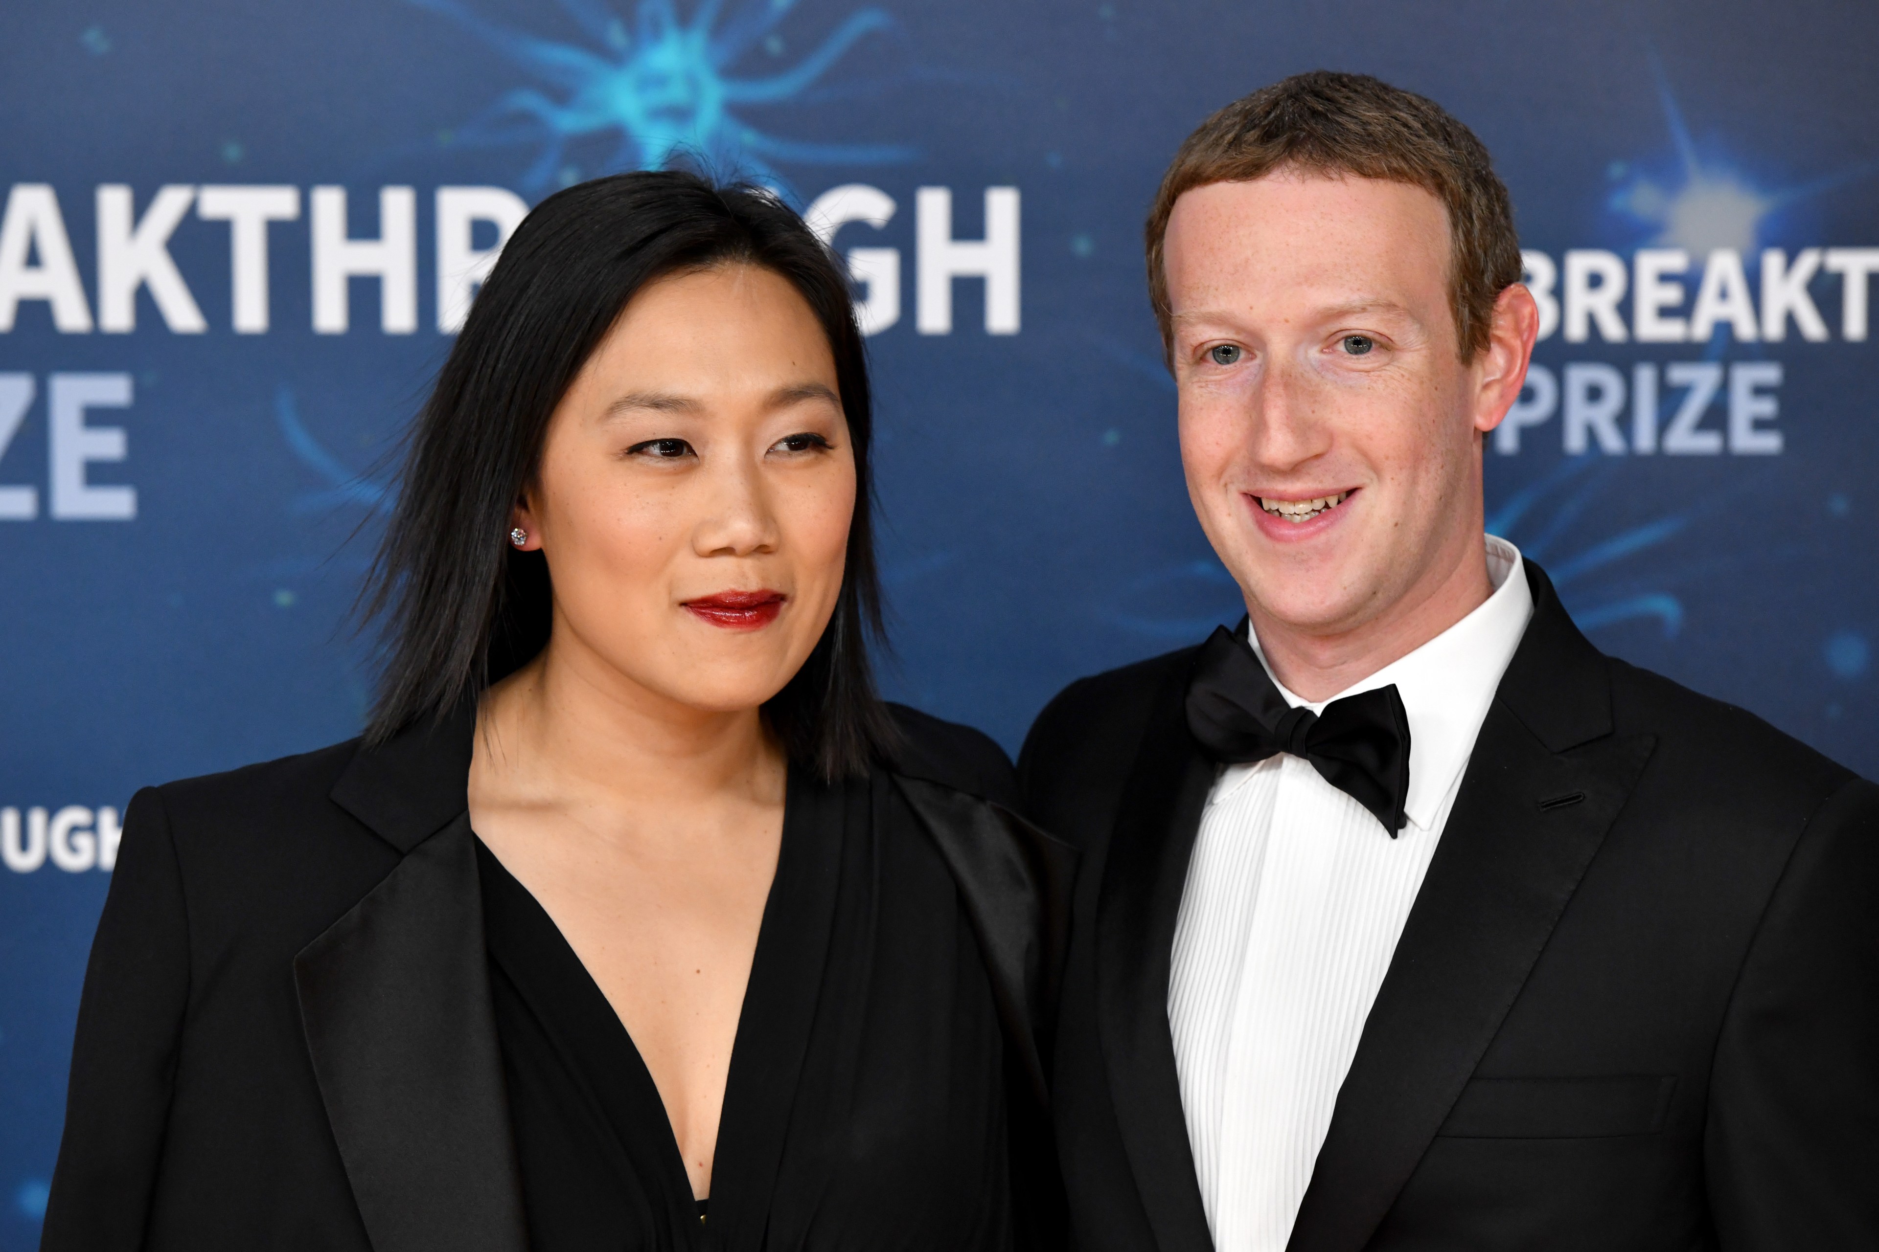
[[[1165,267],[1188,494],[1255,627],[1345,634],[1479,557],[1479,434],[1526,353],[1511,394],[1505,336],[1460,359],[1441,201],[1216,182],[1174,203]]]

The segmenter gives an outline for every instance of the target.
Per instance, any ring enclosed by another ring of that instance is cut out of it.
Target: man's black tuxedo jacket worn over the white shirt
[[[1338,1092],[1291,1235],[1359,1248],[1879,1248],[1879,788],[1533,621]],[[1204,1252],[1167,1023],[1214,768],[1193,649],[1037,719],[1084,852],[1056,1124],[1084,1252]]]

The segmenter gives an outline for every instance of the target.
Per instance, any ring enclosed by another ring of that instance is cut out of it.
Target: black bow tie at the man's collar
[[[1276,753],[1312,762],[1327,783],[1377,815],[1390,839],[1407,822],[1409,715],[1396,685],[1343,696],[1323,713],[1291,708],[1238,631],[1218,627],[1188,681],[1188,728],[1221,764]]]

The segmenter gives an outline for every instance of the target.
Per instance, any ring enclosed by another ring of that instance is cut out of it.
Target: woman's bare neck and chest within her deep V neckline
[[[693,1196],[710,1194],[785,779],[757,710],[665,698],[579,642],[551,642],[477,717],[470,824],[618,1014]]]

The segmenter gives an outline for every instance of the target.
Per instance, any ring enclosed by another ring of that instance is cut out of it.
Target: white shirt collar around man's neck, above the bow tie
[[[1396,683],[1409,715],[1409,798],[1404,811],[1422,830],[1434,826],[1441,802],[1467,766],[1494,691],[1533,618],[1533,589],[1528,588],[1520,550],[1499,535],[1488,535],[1486,544],[1494,591],[1475,612],[1409,655],[1315,704],[1272,679],[1289,706],[1302,704],[1313,713],[1323,713],[1340,696]],[[1259,638],[1250,634],[1250,640],[1265,664]],[[1270,674],[1270,666],[1266,672]]]

